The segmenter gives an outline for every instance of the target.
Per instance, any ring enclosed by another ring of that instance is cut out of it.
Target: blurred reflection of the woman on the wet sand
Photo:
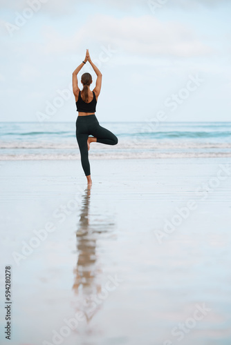
[[[114,226],[111,219],[102,219],[96,215],[96,219],[89,222],[91,186],[88,186],[82,195],[82,208],[80,220],[77,224],[77,266],[75,268],[75,282],[73,290],[80,296],[80,310],[89,320],[97,313],[102,304],[102,270],[96,257],[96,244],[100,233],[109,232]],[[113,285],[111,283],[111,285]],[[112,290],[112,289],[111,289]]]

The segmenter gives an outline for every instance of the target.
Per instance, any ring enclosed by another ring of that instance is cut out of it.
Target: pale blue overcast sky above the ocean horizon
[[[86,48],[99,121],[230,121],[230,15],[229,0],[1,0],[0,121],[75,121]]]

